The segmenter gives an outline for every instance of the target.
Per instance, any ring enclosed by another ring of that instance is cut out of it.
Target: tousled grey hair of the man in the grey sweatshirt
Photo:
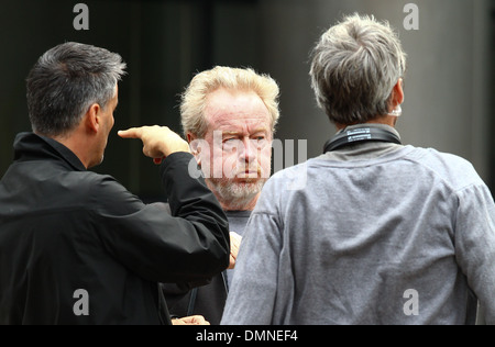
[[[406,54],[388,22],[353,14],[330,27],[311,53],[311,87],[330,121],[361,124],[387,114]]]

